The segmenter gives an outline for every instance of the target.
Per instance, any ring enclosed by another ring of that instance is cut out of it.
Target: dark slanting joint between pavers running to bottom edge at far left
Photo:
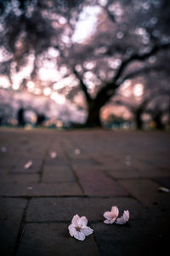
[[[23,211],[23,215],[22,215],[21,222],[20,222],[20,229],[19,229],[18,236],[17,236],[16,242],[15,242],[14,253],[13,253],[14,256],[17,255],[18,249],[20,247],[20,242],[25,233],[26,211],[27,211],[27,208],[29,207],[29,203],[30,203],[30,199],[27,199],[26,207]]]

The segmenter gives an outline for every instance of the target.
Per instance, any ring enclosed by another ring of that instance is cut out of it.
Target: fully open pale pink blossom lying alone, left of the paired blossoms
[[[86,236],[91,235],[94,232],[94,230],[88,227],[87,224],[88,219],[86,217],[79,217],[76,214],[68,227],[70,235],[74,236],[77,240],[83,241]]]

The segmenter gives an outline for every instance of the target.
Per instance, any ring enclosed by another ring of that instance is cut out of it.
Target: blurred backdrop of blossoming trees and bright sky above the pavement
[[[167,0],[0,1],[0,125],[165,129]]]

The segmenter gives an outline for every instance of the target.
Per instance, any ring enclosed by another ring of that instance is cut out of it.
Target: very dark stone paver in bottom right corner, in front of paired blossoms
[[[126,225],[95,224],[95,238],[102,256],[164,255],[168,249],[170,221],[148,219]]]

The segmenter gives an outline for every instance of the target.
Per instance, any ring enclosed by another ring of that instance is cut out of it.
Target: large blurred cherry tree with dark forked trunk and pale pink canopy
[[[169,93],[169,24],[168,0],[0,1],[4,88],[84,98],[91,127],[101,126],[101,109],[115,99],[137,113]],[[134,107],[119,89],[136,79],[144,91]]]

